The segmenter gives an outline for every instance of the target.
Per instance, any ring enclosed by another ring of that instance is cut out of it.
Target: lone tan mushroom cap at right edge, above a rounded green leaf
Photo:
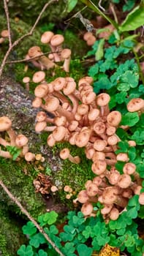
[[[144,100],[140,98],[131,99],[127,104],[127,110],[129,112],[135,112],[144,108]]]

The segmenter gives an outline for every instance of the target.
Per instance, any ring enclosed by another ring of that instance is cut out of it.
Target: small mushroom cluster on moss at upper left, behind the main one
[[[45,31],[45,33],[42,34],[41,42],[42,44],[48,45],[51,53],[45,56],[41,48],[35,45],[29,48],[26,55],[27,61],[31,61],[35,67],[41,70],[56,67],[57,62],[63,61],[62,68],[64,71],[69,72],[71,50],[69,48],[62,48],[64,42],[63,35],[53,34],[52,31]]]

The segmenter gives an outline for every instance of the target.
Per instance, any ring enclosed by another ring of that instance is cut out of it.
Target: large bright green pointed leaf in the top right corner
[[[144,20],[144,4],[142,3],[140,6],[137,6],[129,12],[126,16],[126,19],[119,27],[120,31],[131,31],[143,26]]]

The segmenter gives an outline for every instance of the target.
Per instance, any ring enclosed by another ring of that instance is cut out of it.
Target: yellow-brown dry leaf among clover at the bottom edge
[[[99,256],[120,256],[120,250],[117,247],[105,244],[99,252]]]

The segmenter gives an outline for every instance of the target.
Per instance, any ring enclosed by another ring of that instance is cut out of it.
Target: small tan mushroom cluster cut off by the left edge
[[[9,138],[7,140],[4,137],[4,132],[7,132]],[[0,157],[10,158],[12,159],[12,154],[9,151],[5,150],[7,146],[15,146],[20,149],[20,155],[17,157],[17,161],[20,160],[20,157],[24,157],[27,162],[34,161],[35,154],[29,152],[29,139],[26,138],[25,135],[19,134],[17,135],[15,131],[12,129],[12,121],[7,116],[0,117]]]

